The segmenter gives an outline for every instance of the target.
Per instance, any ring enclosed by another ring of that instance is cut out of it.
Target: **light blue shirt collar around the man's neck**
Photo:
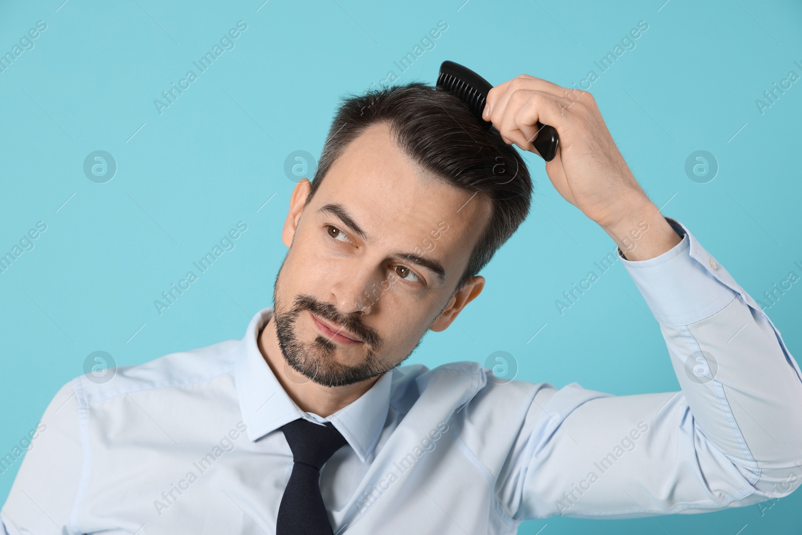
[[[273,316],[273,306],[257,312],[240,341],[234,365],[237,397],[248,438],[260,439],[294,419],[312,418],[290,399],[265,362],[257,345],[261,327]],[[392,372],[388,371],[353,403],[324,419],[334,424],[365,462],[379,440],[390,407]]]

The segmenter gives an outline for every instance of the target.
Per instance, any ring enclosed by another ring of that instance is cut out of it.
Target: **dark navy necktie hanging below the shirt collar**
[[[276,535],[332,535],[320,494],[320,468],[347,444],[334,425],[299,418],[282,426],[293,452],[293,472],[278,506]]]

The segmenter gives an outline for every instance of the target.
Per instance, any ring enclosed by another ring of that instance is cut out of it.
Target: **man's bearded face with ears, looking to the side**
[[[481,277],[454,290],[489,203],[423,172],[386,124],[348,145],[304,209],[309,185],[295,188],[282,235],[279,347],[317,383],[359,383],[397,366],[479,294]]]

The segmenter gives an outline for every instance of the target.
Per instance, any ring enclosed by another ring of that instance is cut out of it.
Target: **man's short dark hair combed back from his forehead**
[[[488,223],[454,291],[461,290],[529,214],[533,184],[524,159],[499,132],[484,128],[462,99],[425,83],[371,89],[341,100],[306,204],[351,141],[373,124],[387,124],[395,144],[415,164],[491,202]]]

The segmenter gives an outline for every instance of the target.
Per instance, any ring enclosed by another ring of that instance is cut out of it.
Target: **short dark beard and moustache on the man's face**
[[[289,255],[289,252],[288,252]],[[286,261],[286,257],[284,258]],[[273,318],[276,322],[276,336],[278,347],[282,350],[282,356],[286,363],[310,381],[318,383],[324,387],[344,387],[349,384],[362,383],[367,379],[372,379],[378,375],[383,375],[398,367],[404,360],[409,358],[415,349],[420,345],[423,337],[419,338],[415,347],[395,364],[383,363],[379,359],[383,343],[375,330],[366,326],[358,316],[343,315],[327,302],[319,302],[314,296],[309,294],[298,294],[295,296],[292,307],[285,310],[282,302],[278,299],[278,286],[281,277],[282,267],[278,270],[276,282],[273,288]],[[354,366],[342,364],[337,361],[337,351],[341,349],[336,342],[331,342],[322,334],[317,334],[311,342],[303,342],[296,336],[296,322],[304,310],[309,310],[312,314],[323,318],[335,325],[342,325],[346,330],[354,333],[363,341],[362,347],[365,351],[363,361]]]

